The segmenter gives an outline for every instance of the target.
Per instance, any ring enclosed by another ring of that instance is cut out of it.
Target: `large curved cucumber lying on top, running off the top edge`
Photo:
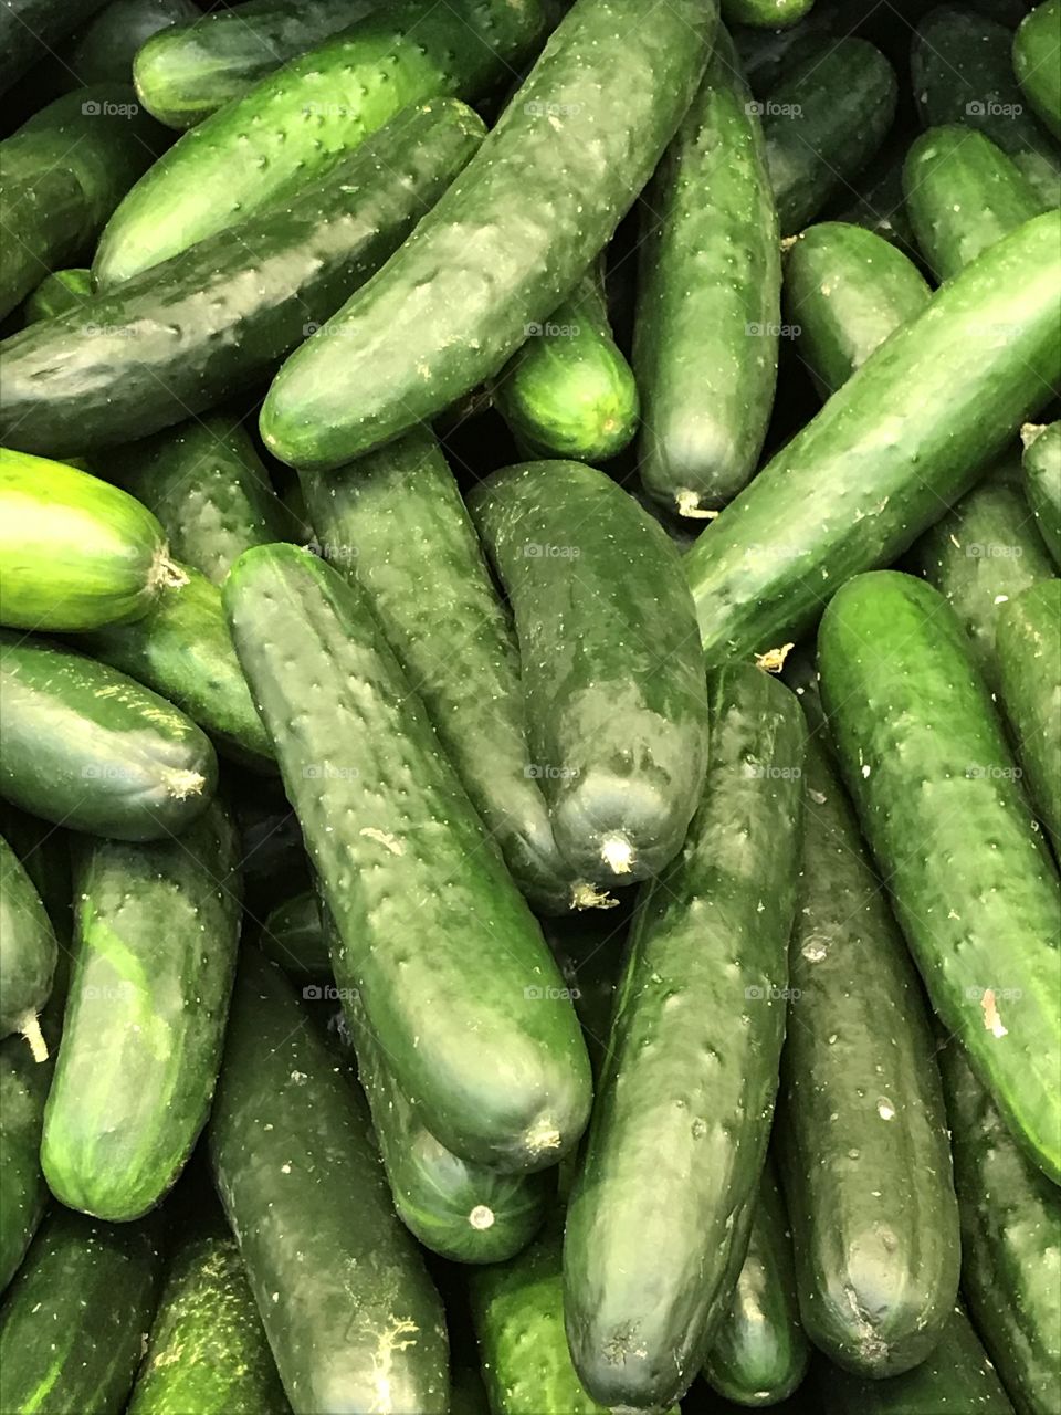
[[[293,467],[337,467],[498,374],[645,185],[714,21],[714,0],[569,10],[461,180],[284,364],[262,409],[266,446]]]

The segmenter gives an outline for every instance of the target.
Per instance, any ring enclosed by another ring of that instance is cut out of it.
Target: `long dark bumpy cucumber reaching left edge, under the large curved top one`
[[[482,125],[410,109],[284,209],[4,341],[0,440],[76,454],[216,408],[269,376],[446,190]]]

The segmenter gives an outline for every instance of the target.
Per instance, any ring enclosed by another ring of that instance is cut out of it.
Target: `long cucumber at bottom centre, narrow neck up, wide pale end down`
[[[567,1210],[567,1337],[608,1407],[666,1404],[702,1367],[744,1259],[738,1215],[751,1221],[778,1084],[806,732],[760,669],[720,671],[710,698],[703,799],[638,901]]]

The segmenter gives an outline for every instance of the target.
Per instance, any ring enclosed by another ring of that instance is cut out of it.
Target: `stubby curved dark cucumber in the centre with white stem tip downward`
[[[512,606],[530,754],[562,856],[605,884],[656,874],[680,849],[707,757],[678,550],[577,461],[506,467],[470,509]]]

